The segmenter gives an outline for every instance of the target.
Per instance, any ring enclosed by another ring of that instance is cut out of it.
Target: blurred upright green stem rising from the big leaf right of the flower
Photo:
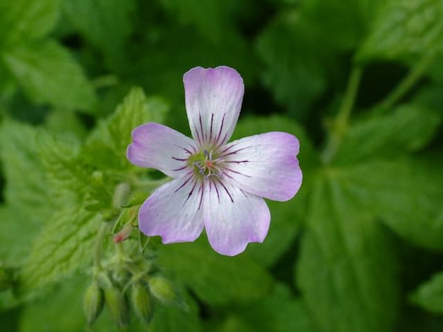
[[[343,102],[338,110],[336,118],[334,119],[331,131],[329,132],[329,138],[325,149],[323,149],[322,160],[324,163],[329,163],[332,156],[336,153],[338,147],[341,144],[341,140],[345,131],[347,130],[347,122],[354,108],[354,102],[357,91],[359,90],[359,84],[361,80],[361,67],[354,66],[350,73],[349,80],[347,81],[346,92],[343,97]]]

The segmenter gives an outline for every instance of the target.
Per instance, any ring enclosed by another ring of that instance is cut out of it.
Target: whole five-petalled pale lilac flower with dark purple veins
[[[298,192],[298,140],[274,131],[228,143],[244,93],[233,68],[192,68],[183,83],[193,140],[154,122],[132,131],[129,161],[173,178],[143,203],[138,226],[163,243],[194,241],[206,228],[214,250],[234,256],[266,237],[263,198],[287,201]]]

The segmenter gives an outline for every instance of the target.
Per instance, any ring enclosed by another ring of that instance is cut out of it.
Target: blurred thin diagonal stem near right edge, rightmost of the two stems
[[[408,75],[398,84],[394,90],[380,103],[381,109],[390,109],[410,91],[415,83],[422,77],[424,71],[432,64],[436,55],[435,50],[426,53],[422,59],[410,69]]]

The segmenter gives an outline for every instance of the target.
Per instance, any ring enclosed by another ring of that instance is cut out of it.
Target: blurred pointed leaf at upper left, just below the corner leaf
[[[82,68],[56,42],[17,46],[0,56],[35,102],[82,111],[91,111],[96,102]]]

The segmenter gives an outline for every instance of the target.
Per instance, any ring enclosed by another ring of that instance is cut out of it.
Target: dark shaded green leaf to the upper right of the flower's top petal
[[[257,53],[266,65],[262,81],[280,104],[297,116],[307,112],[325,90],[323,64],[327,49],[312,38],[298,12],[284,14],[266,26],[257,39]]]

